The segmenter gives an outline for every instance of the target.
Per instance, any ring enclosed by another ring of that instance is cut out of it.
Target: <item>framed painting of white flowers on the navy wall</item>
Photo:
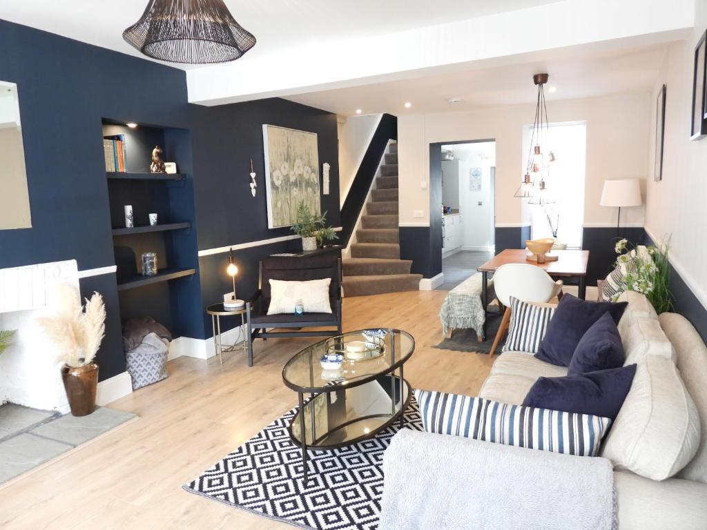
[[[263,125],[268,228],[290,226],[304,202],[320,213],[317,134]]]

